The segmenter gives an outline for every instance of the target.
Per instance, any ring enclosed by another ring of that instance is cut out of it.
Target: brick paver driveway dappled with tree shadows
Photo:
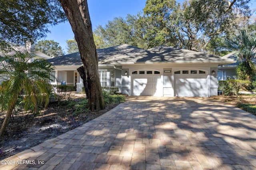
[[[129,96],[2,163],[11,164],[4,170],[256,169],[256,117],[209,98]]]

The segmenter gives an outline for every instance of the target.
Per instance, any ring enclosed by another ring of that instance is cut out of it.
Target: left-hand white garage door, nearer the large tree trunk
[[[132,82],[132,95],[134,96],[162,96],[160,94],[162,84],[159,71],[134,71],[132,72]]]

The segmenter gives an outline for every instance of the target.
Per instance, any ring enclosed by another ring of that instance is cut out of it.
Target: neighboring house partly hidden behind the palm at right
[[[218,67],[218,80],[227,80],[230,79],[236,79],[236,67],[241,63],[237,60],[236,52],[229,53],[227,55],[223,56],[226,59],[233,59],[236,62],[226,65],[220,65]],[[252,60],[254,63],[256,63],[256,59]]]

